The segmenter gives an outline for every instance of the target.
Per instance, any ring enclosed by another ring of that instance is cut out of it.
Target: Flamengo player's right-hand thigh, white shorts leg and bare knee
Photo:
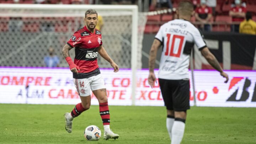
[[[107,90],[101,74],[94,76],[91,82],[91,90],[99,103],[107,102]]]

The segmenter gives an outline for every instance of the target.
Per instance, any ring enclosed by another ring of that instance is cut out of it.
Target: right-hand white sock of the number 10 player
[[[172,126],[172,140],[171,144],[180,144],[185,131],[185,123],[181,121],[174,121]]]

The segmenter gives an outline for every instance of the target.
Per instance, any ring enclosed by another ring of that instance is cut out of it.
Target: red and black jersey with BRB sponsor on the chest
[[[86,26],[76,31],[67,44],[75,47],[74,63],[79,66],[79,74],[73,73],[73,78],[84,79],[100,74],[97,57],[98,48],[102,45],[101,32],[95,29],[91,33]]]

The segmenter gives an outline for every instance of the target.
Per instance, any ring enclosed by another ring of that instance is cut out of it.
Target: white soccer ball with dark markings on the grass
[[[99,140],[101,137],[101,130],[94,125],[85,128],[84,136],[87,140]]]

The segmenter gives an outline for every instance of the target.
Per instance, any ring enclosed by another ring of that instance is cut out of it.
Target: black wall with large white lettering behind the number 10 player
[[[230,32],[204,32],[204,40],[225,70],[256,70],[256,36]],[[142,68],[148,68],[148,53],[155,34],[144,34]],[[195,46],[196,47],[196,46]],[[195,69],[213,69],[198,50],[194,50]],[[160,61],[158,52],[157,60]],[[155,68],[159,68],[156,63]]]

